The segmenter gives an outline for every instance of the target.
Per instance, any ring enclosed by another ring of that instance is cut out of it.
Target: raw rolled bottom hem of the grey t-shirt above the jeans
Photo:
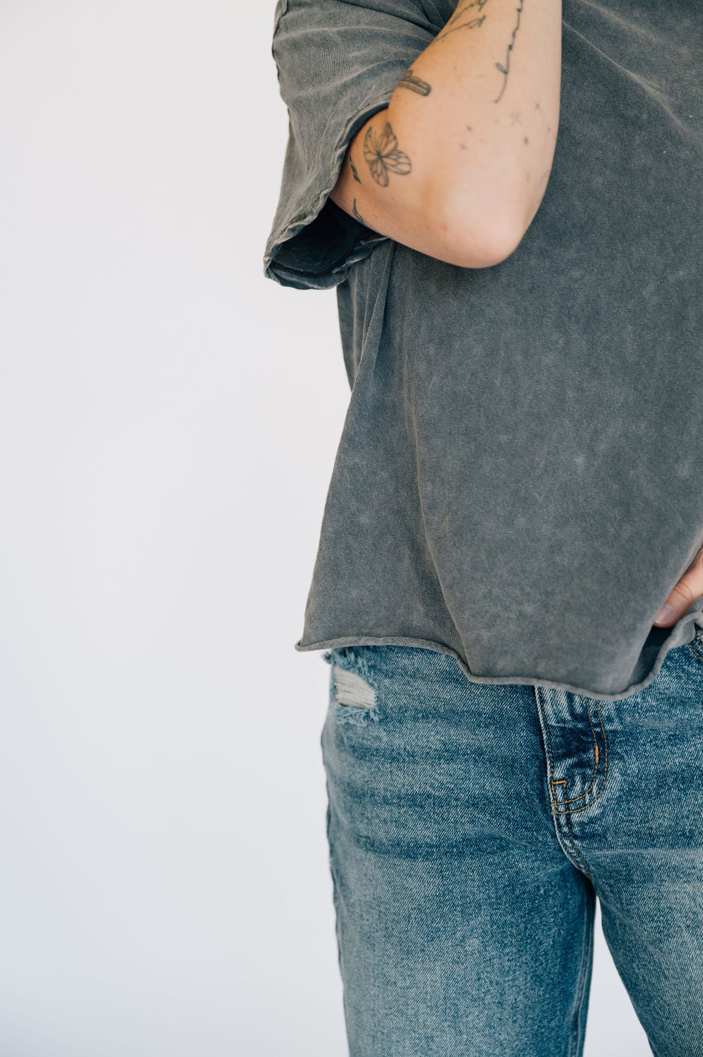
[[[686,638],[685,634],[682,633],[682,628],[686,625],[690,625],[690,635]],[[703,627],[703,611],[698,610],[692,613],[686,613],[685,616],[681,617],[679,624],[674,624],[670,629],[671,634],[664,639],[660,646],[659,653],[654,660],[654,664],[649,670],[648,674],[641,680],[639,683],[627,687],[618,693],[596,693],[593,690],[588,690],[582,686],[573,686],[571,683],[559,683],[556,680],[550,679],[539,679],[536,675],[475,675],[466,665],[466,662],[450,646],[445,646],[442,643],[436,643],[428,638],[411,638],[404,637],[403,635],[341,635],[339,638],[327,638],[321,643],[309,643],[302,646],[302,638],[299,638],[297,643],[294,644],[294,648],[299,653],[304,653],[308,650],[325,650],[325,649],[335,649],[338,646],[414,646],[420,649],[434,650],[438,653],[448,653],[456,661],[466,679],[471,683],[491,683],[491,684],[505,684],[505,683],[518,683],[524,686],[545,686],[553,690],[568,690],[570,693],[577,693],[582,698],[591,698],[597,701],[621,701],[623,698],[629,698],[633,693],[637,693],[640,690],[644,690],[650,683],[652,683],[660,673],[662,665],[664,664],[664,659],[670,649],[676,649],[679,646],[688,645],[696,637],[696,624]],[[676,639],[679,639],[678,642]]]

